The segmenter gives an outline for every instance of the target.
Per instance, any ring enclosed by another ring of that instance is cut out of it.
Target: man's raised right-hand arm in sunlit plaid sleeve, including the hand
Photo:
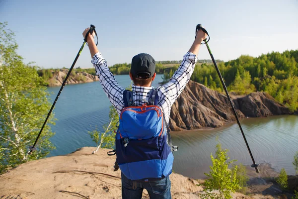
[[[168,98],[171,100],[172,105],[178,96],[181,94],[186,84],[189,82],[189,79],[195,69],[197,62],[197,55],[201,46],[201,42],[206,39],[207,34],[202,30],[197,32],[197,37],[190,47],[188,53],[183,57],[181,65],[174,73],[170,81],[162,86],[165,92],[168,95]]]

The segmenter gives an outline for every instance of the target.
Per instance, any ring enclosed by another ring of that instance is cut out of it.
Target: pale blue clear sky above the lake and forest
[[[298,49],[298,0],[0,0],[0,21],[15,32],[25,63],[42,68],[70,68],[90,24],[108,65],[143,52],[181,60],[198,23],[215,59]],[[199,59],[210,59],[205,46]],[[87,46],[78,66],[92,67]]]

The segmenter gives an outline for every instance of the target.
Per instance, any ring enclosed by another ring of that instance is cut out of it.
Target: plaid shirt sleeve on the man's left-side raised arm
[[[108,68],[106,60],[102,57],[101,53],[96,53],[91,63],[95,67],[96,75],[103,88],[104,93],[107,95],[114,107],[117,107],[121,98],[123,98],[124,88],[119,86],[115,77]]]

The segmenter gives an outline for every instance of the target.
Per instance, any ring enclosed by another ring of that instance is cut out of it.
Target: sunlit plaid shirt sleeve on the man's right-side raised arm
[[[162,85],[162,88],[167,94],[167,98],[170,100],[170,106],[177,100],[178,96],[189,82],[190,77],[194,72],[196,62],[197,57],[195,54],[191,52],[186,53],[183,56],[181,65],[171,77],[170,81]]]

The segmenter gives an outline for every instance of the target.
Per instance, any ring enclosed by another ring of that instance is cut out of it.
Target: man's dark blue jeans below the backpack
[[[143,190],[148,191],[150,199],[171,199],[169,177],[159,181],[131,181],[121,173],[122,199],[142,199]]]

